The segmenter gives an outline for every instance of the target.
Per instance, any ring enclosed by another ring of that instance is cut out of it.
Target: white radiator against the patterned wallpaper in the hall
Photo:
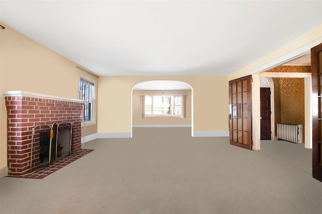
[[[302,143],[302,125],[277,123],[277,140]]]

